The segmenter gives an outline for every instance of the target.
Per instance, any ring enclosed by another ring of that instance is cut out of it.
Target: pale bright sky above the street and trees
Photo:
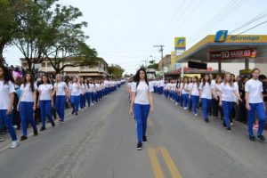
[[[266,0],[60,0],[60,3],[76,6],[84,13],[80,20],[88,22],[87,44],[109,64],[119,64],[127,73],[134,73],[147,59],[160,58],[154,44],[164,44],[164,54],[169,54],[174,50],[175,36],[185,36],[190,48],[206,35],[239,28],[267,12]],[[247,28],[264,20],[267,16]],[[267,23],[245,34],[266,35]],[[16,65],[23,56],[10,46],[5,48],[4,57],[9,64]]]

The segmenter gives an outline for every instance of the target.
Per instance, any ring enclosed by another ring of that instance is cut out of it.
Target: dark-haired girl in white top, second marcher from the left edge
[[[22,136],[20,141],[28,139],[28,123],[32,126],[34,135],[38,134],[36,122],[34,121],[34,111],[36,110],[36,90],[34,78],[31,73],[23,77],[23,84],[20,85],[20,101],[17,110],[20,111]]]

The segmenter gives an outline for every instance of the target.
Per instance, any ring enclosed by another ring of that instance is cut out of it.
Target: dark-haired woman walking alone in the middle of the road
[[[136,149],[142,150],[142,142],[147,142],[146,130],[150,110],[154,113],[153,85],[148,82],[145,69],[137,70],[134,79],[130,114],[132,115],[134,110],[138,142]]]

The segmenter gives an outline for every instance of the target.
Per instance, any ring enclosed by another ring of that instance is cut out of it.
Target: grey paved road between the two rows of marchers
[[[0,153],[0,177],[266,178],[267,144],[250,142],[244,125],[226,132],[155,96],[148,140],[135,149],[135,123],[124,89],[65,125]]]

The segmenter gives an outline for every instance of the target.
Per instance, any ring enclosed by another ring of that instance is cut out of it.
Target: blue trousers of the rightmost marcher
[[[248,110],[248,121],[247,121],[247,128],[248,128],[248,136],[252,136],[253,134],[253,124],[255,120],[255,111],[258,114],[259,119],[259,128],[258,128],[258,134],[263,134],[263,128],[265,125],[265,109],[263,102],[261,103],[249,103],[250,110]]]

